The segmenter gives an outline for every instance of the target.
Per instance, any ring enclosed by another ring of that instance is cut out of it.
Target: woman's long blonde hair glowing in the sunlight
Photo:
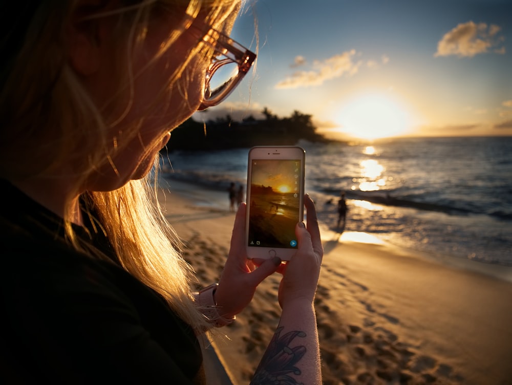
[[[120,42],[117,67],[123,71],[116,81],[119,93],[126,95],[130,94],[137,75],[129,67],[130,50],[144,40],[147,29],[151,28],[151,18],[160,7],[182,14],[184,20],[196,18],[201,12],[208,25],[222,29],[240,2],[142,0],[121,3],[126,4],[108,12],[105,9],[80,10],[76,0],[46,0],[35,6],[38,8],[28,24],[25,40],[2,68],[2,74],[7,73],[7,76],[2,79],[0,91],[1,178],[58,178],[61,177],[57,171],[59,165],[70,161],[80,163],[81,169],[69,176],[75,185],[71,198],[94,170],[112,163],[108,149],[111,146],[108,146],[105,132],[116,125],[119,117],[106,117],[105,111],[111,111],[118,98],[113,95],[105,105],[96,106],[67,63],[66,27],[78,11],[84,12],[86,22],[97,17],[117,17],[112,38]],[[162,51],[172,46],[185,28],[186,23],[177,25],[163,42]],[[168,84],[162,85],[162,95],[165,89],[176,84],[191,58],[203,55],[207,60],[207,49],[210,48],[200,44],[191,49]],[[186,98],[186,90],[176,92]],[[129,108],[129,103],[125,107]],[[129,135],[137,135],[137,127]],[[112,164],[112,167],[115,166]],[[95,231],[106,234],[122,267],[156,290],[180,317],[202,331],[206,320],[193,303],[193,270],[182,258],[177,246],[179,239],[162,215],[156,199],[156,184],[156,178],[151,186],[149,177],[145,177],[114,191],[88,192],[82,198],[86,210],[94,216]],[[73,247],[101,258],[98,250],[78,239],[69,221],[65,222],[65,230]]]

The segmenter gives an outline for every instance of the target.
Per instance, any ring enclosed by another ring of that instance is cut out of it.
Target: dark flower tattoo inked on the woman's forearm
[[[306,354],[305,346],[290,348],[290,343],[295,337],[306,337],[302,331],[288,332],[281,337],[283,328],[275,331],[270,344],[261,359],[260,366],[254,373],[251,385],[276,384],[298,385],[295,378],[288,374],[300,375],[301,370],[295,364]]]

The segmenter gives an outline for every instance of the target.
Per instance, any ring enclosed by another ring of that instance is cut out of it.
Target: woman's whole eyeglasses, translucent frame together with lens
[[[201,40],[214,48],[215,52],[206,70],[204,96],[198,111],[206,110],[227,98],[256,59],[255,53],[214,29],[210,29]]]

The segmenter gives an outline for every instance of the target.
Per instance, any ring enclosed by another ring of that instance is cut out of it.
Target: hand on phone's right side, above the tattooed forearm
[[[279,272],[283,279],[279,286],[279,304],[281,308],[293,301],[314,300],[320,267],[324,255],[316,209],[309,195],[304,198],[307,226],[298,223],[295,227],[298,249],[289,262]]]

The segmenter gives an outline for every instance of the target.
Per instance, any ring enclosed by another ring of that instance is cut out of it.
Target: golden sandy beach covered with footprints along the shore
[[[184,256],[202,286],[217,282],[234,220],[227,192],[168,184],[160,202]],[[315,309],[325,384],[512,383],[511,268],[434,260],[366,233],[323,228],[322,237]],[[278,325],[279,280],[268,277],[214,340],[236,385],[249,383]]]

